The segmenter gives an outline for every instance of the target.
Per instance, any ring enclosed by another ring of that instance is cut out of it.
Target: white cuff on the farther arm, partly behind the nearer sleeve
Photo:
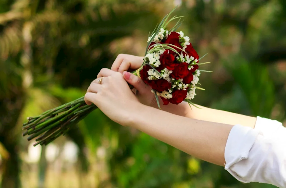
[[[273,136],[281,127],[283,127],[283,125],[279,121],[257,116],[254,130],[261,132],[265,137],[269,137]]]

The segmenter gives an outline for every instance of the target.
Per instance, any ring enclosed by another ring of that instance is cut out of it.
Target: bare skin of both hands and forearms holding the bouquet
[[[162,105],[159,110],[150,87],[126,72],[139,68],[143,57],[120,54],[110,69],[102,69],[85,95],[113,121],[157,138],[194,157],[224,166],[224,151],[235,124],[254,128],[256,118],[199,106],[186,102]],[[98,80],[102,78],[102,84]],[[127,82],[137,90],[132,92]],[[120,100],[118,100],[120,99]],[[222,118],[223,117],[223,118]]]

